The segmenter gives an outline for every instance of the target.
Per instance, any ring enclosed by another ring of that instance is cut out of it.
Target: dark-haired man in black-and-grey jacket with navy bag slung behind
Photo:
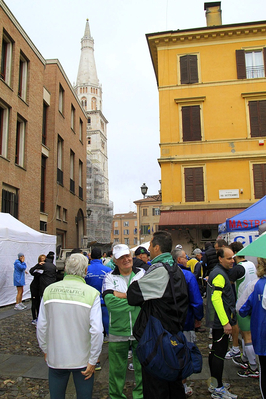
[[[152,264],[146,274],[128,288],[128,303],[141,305],[141,311],[134,327],[134,335],[140,340],[150,315],[159,319],[163,327],[175,334],[183,329],[188,295],[185,277],[171,256],[172,238],[167,231],[157,231],[153,234],[149,252]],[[173,298],[169,274],[163,263],[168,263],[174,271]],[[142,368],[143,396],[145,399],[185,399],[185,390],[181,380],[166,381],[149,374]]]

